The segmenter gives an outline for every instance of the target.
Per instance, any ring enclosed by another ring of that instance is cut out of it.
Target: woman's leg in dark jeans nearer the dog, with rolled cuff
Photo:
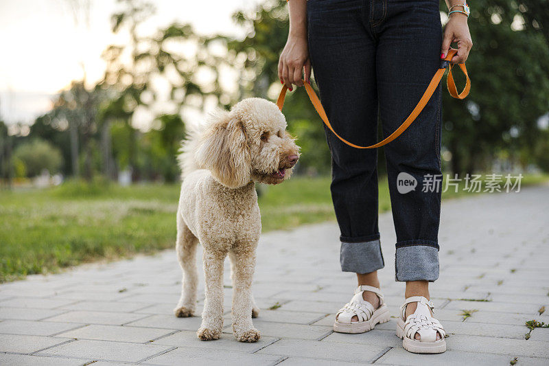
[[[378,108],[368,14],[362,0],[307,2],[309,55],[327,116],[342,136],[366,145],[377,140]],[[377,271],[384,266],[377,228],[377,151],[351,148],[331,132],[327,141],[342,271]]]

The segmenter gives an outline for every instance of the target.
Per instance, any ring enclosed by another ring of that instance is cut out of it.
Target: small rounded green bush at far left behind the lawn
[[[25,172],[27,176],[37,176],[44,169],[48,170],[50,174],[55,174],[59,172],[63,162],[59,149],[40,139],[34,139],[17,146],[14,151],[14,159],[23,163],[24,168],[18,168],[19,174]]]

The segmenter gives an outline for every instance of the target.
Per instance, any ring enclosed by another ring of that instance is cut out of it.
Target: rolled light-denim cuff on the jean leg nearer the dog
[[[379,239],[368,242],[342,242],[341,271],[370,273],[385,266]]]

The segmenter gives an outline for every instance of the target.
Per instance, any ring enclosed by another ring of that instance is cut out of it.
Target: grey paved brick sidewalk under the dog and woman
[[[340,272],[330,222],[262,236],[258,343],[231,333],[228,265],[222,339],[199,341],[200,317],[174,317],[181,274],[174,251],[165,251],[0,285],[0,365],[509,365],[515,357],[549,365],[549,329],[526,340],[524,325],[549,323],[549,187],[447,201],[442,214],[441,276],[431,294],[449,333],[445,354],[404,351],[394,318],[365,334],[332,332],[355,279]],[[382,290],[395,315],[404,285],[394,281],[390,214],[379,225]]]

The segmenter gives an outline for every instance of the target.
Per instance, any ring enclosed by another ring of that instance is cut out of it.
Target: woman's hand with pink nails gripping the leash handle
[[[463,64],[469,56],[469,51],[473,47],[469,26],[467,25],[467,16],[461,13],[450,15],[450,19],[444,27],[444,38],[442,41],[441,58],[445,58],[450,49],[450,43],[458,43],[458,52],[452,57],[453,64]]]

